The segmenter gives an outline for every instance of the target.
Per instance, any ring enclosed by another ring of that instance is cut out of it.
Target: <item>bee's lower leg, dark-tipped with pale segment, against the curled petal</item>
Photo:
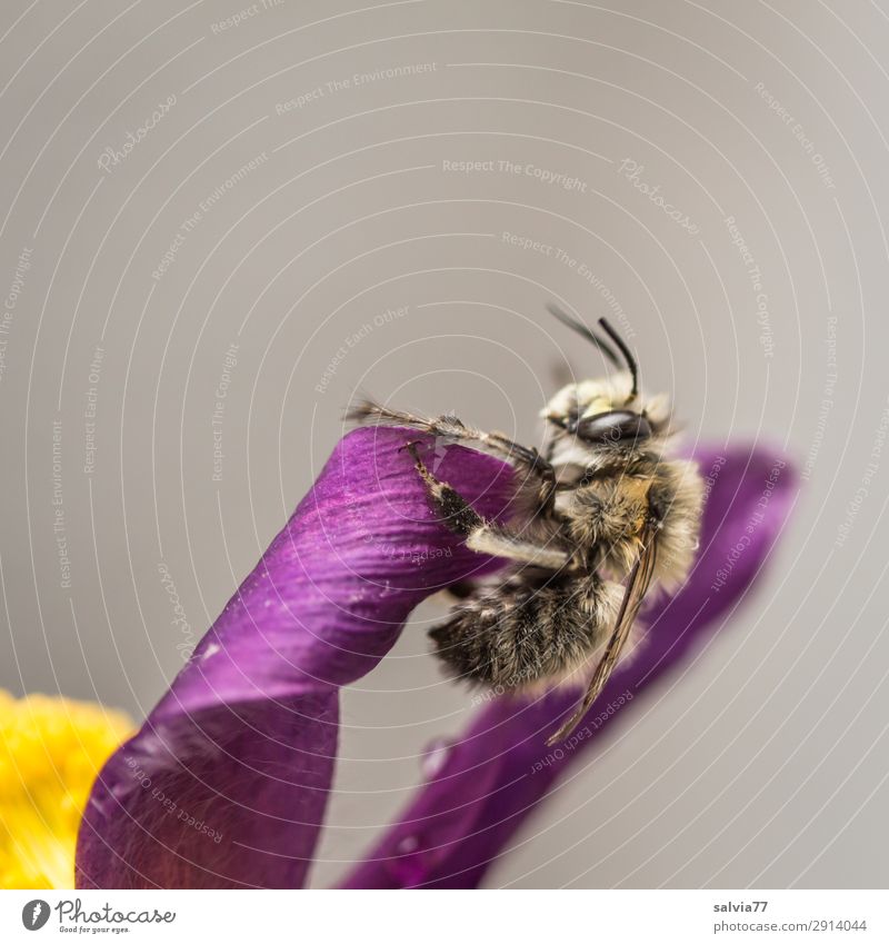
[[[429,471],[420,458],[416,443],[408,443],[404,448],[412,456],[414,467],[426,485],[432,509],[447,528],[466,539],[467,547],[479,554],[508,557],[553,570],[559,570],[568,564],[569,553],[555,541],[538,544],[482,518],[459,491]]]

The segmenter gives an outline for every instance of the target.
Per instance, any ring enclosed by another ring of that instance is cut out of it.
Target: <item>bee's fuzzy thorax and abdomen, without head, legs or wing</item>
[[[697,543],[697,470],[653,457],[640,465],[636,475],[558,494],[560,527],[546,546],[573,548],[560,569],[516,562],[511,575],[479,587],[431,630],[437,655],[455,675],[498,689],[579,684],[613,630],[625,595],[619,582],[641,554],[651,506],[665,509],[652,582],[668,587],[681,582]],[[495,544],[483,534],[470,536],[478,550]]]

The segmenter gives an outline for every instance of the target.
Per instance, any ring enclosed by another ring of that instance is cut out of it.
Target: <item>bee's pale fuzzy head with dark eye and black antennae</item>
[[[592,341],[615,366],[622,366],[611,346],[586,325],[558,308],[550,307],[550,311]],[[569,384],[547,404],[541,416],[551,425],[553,440],[568,439],[581,447],[613,449],[621,454],[646,449],[653,445],[650,440],[667,431],[669,403],[663,396],[651,399],[642,396],[632,354],[605,319],[599,324],[620,351],[626,369],[611,377]]]

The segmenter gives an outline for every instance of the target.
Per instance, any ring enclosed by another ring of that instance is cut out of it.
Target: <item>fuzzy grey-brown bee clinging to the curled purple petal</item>
[[[485,520],[427,467],[417,444],[406,441],[442,523],[473,550],[511,562],[496,584],[463,588],[430,632],[437,655],[452,674],[498,690],[577,684],[592,673],[553,744],[573,731],[608,682],[649,589],[675,588],[688,575],[703,484],[692,463],[669,457],[669,400],[641,392],[636,359],[620,335],[603,318],[607,339],[549,310],[616,370],[552,397],[540,414],[542,454],[452,415],[424,419],[364,401],[350,416],[492,453],[523,479],[528,520],[518,528]]]

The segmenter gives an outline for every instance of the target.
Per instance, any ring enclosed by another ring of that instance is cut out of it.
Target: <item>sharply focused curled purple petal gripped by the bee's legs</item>
[[[412,434],[347,436],[139,733],[106,764],[80,828],[78,887],[298,887],[333,773],[339,687],[410,610],[501,562],[436,523]],[[422,447],[487,516],[509,467]]]

